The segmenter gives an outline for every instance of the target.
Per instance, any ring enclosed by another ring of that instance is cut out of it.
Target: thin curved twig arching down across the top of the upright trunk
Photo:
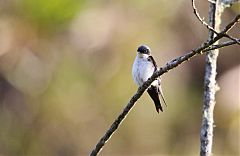
[[[211,2],[211,3],[212,3],[212,2]],[[212,4],[215,4],[215,2],[212,3]],[[211,31],[214,32],[215,34],[219,34],[213,27],[211,27],[207,22],[204,21],[204,19],[202,19],[202,18],[200,17],[200,14],[199,14],[198,11],[197,11],[197,7],[196,7],[196,4],[195,4],[195,0],[192,0],[192,8],[193,8],[193,13],[196,15],[197,19],[198,19],[207,29],[211,30]],[[240,45],[240,42],[239,42],[236,38],[234,38],[234,37],[232,37],[232,36],[230,36],[230,35],[228,35],[228,34],[226,34],[226,33],[224,33],[224,37],[227,37],[227,38],[229,38],[229,39],[237,42],[237,44]]]

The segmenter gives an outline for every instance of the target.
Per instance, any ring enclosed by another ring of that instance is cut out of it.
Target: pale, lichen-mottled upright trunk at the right
[[[220,0],[215,0],[215,3],[211,3],[209,8],[209,25],[216,31],[220,30],[221,14],[224,10],[219,1]],[[208,39],[212,40],[214,36],[214,32],[210,30]],[[216,103],[215,94],[218,90],[216,82],[218,52],[218,49],[209,51],[205,59],[203,116],[200,133],[201,156],[210,156],[212,154],[213,110]]]

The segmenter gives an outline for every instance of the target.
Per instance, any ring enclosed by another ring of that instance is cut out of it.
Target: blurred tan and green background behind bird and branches
[[[207,20],[208,2],[197,7]],[[0,155],[88,155],[137,90],[137,47],[162,66],[207,33],[190,0],[0,0]],[[221,49],[214,155],[240,154],[239,60],[239,46]],[[199,155],[203,76],[204,56],[162,76],[168,107],[145,93],[101,155]]]

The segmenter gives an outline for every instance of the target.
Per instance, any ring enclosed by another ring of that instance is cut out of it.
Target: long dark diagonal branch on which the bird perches
[[[235,22],[237,22],[239,20],[240,16],[236,17],[230,24],[234,25]],[[224,31],[228,31],[228,29],[231,29],[231,26],[227,25],[226,28],[224,29]],[[168,62],[165,66],[163,66],[162,68],[158,69],[157,71],[155,71],[153,73],[153,75],[146,81],[143,83],[142,86],[140,86],[137,90],[137,92],[134,94],[134,96],[132,96],[132,98],[130,99],[130,101],[128,102],[127,106],[123,109],[123,111],[120,113],[120,115],[115,119],[115,121],[112,123],[112,125],[110,126],[110,128],[106,131],[106,133],[104,134],[104,136],[98,141],[98,143],[96,144],[95,148],[92,150],[91,152],[91,156],[96,156],[98,155],[98,153],[101,151],[101,149],[103,148],[103,146],[106,144],[106,142],[110,139],[110,137],[113,135],[113,133],[117,130],[117,128],[119,127],[119,125],[123,122],[123,120],[126,118],[126,116],[128,115],[128,113],[130,112],[130,110],[133,108],[135,102],[142,96],[142,94],[144,93],[144,91],[150,86],[150,84],[160,75],[167,73],[169,70],[179,66],[180,64],[182,64],[185,61],[190,60],[192,57],[194,57],[195,55],[198,54],[202,54],[204,52],[205,49],[207,49],[208,47],[212,46],[215,42],[217,42],[218,40],[220,40],[221,38],[224,37],[223,35],[224,33],[219,33],[215,38],[213,38],[212,40],[206,41],[204,42],[201,46],[199,46],[196,49],[193,49],[191,52],[182,55],[176,59],[173,59],[172,61]]]

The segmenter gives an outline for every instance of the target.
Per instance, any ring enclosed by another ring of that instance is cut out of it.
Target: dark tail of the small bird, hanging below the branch
[[[157,112],[159,113],[159,110],[163,112],[160,99],[159,99],[158,88],[156,86],[150,86],[147,92],[152,98],[152,100],[154,101]]]

